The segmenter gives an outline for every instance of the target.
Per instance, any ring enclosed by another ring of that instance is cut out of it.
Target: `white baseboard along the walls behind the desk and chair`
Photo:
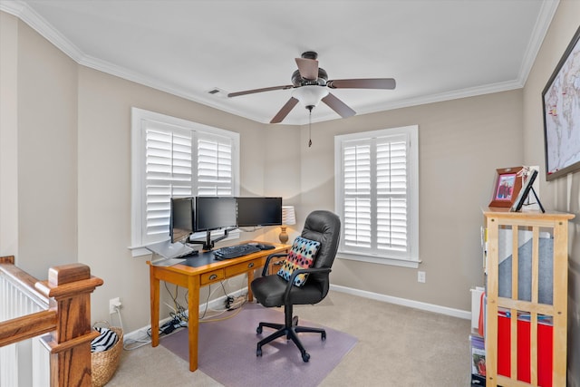
[[[402,305],[402,306],[409,306],[411,308],[425,310],[429,312],[439,313],[439,314],[447,314],[452,317],[459,317],[466,320],[471,319],[471,312],[470,311],[463,311],[459,309],[449,308],[447,306],[440,306],[440,305],[433,305],[427,303],[421,303],[420,301],[413,301],[408,300],[406,298],[399,298],[393,297],[392,295],[381,295],[378,293],[367,292],[366,290],[360,289],[353,289],[352,287],[346,287],[341,285],[330,285],[330,288],[336,292],[347,293],[349,295],[358,295],[359,297],[363,298],[370,298],[372,300],[382,301],[384,303],[390,303],[395,305]],[[247,294],[247,287],[243,287],[235,292],[232,292],[231,295],[238,296]],[[224,305],[226,302],[226,295],[222,295],[208,303],[208,308],[219,308]],[[203,311],[206,309],[206,305],[199,305],[199,314],[202,314]],[[169,317],[160,320],[160,325],[165,324],[169,321]],[[144,333],[150,329],[151,325],[144,326],[136,331],[132,331],[129,334],[124,334],[126,340],[138,340],[141,339]]]

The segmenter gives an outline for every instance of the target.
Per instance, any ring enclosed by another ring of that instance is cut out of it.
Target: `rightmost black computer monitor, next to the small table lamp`
[[[282,198],[237,198],[237,227],[282,225]]]

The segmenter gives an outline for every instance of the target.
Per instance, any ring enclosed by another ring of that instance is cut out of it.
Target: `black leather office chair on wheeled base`
[[[295,270],[285,280],[276,274],[266,276],[270,260],[275,256],[285,256],[285,254],[273,254],[266,259],[266,265],[262,271],[262,276],[252,281],[251,287],[256,300],[266,307],[284,305],[285,324],[260,323],[256,328],[256,333],[261,334],[264,326],[276,329],[274,334],[270,334],[265,339],[257,343],[256,356],[262,356],[262,345],[274,341],[283,335],[287,340],[292,340],[300,353],[302,360],[308,362],[310,354],[306,353],[304,345],[298,338],[298,333],[312,332],[321,334],[322,340],[326,340],[326,332],[320,328],[310,328],[298,325],[298,316],[293,317],[293,305],[317,304],[328,294],[330,287],[330,272],[333,266],[334,256],[338,249],[338,241],[341,232],[341,221],[330,211],[318,210],[312,212],[304,222],[304,229],[301,237],[320,243],[317,255],[314,257],[314,264],[311,268]],[[304,284],[293,285],[296,276],[307,273],[308,276]]]

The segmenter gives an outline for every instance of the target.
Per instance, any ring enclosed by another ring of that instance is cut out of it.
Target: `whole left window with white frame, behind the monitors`
[[[172,196],[237,196],[239,134],[137,108],[131,121],[131,249],[140,256],[168,239]]]

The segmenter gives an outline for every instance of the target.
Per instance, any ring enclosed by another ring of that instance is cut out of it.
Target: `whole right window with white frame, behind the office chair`
[[[418,126],[334,138],[341,257],[419,265]]]

